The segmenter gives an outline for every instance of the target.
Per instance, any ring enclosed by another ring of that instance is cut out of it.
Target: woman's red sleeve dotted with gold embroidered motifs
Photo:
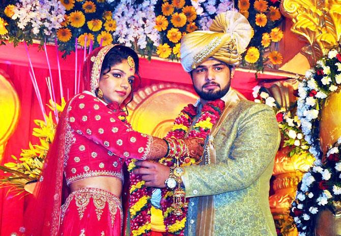
[[[77,133],[121,158],[147,158],[152,137],[129,128],[98,98],[80,94],[70,107],[69,123]]]

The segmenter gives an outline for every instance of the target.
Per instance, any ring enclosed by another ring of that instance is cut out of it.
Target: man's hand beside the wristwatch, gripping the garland
[[[165,188],[164,181],[169,177],[169,167],[157,162],[137,161],[133,173],[141,175],[147,187]]]

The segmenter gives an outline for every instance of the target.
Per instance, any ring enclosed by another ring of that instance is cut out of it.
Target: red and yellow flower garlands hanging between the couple
[[[217,122],[220,117],[221,112],[224,109],[224,102],[221,99],[208,102],[203,106],[201,110],[201,115],[193,124],[193,129],[188,133],[188,137],[206,138],[210,133],[211,128]],[[174,126],[171,131],[168,132],[166,138],[177,138],[183,139],[186,132],[191,126],[194,117],[197,116],[197,108],[189,104],[185,107],[180,115],[175,119]],[[150,224],[150,197],[151,189],[146,188],[145,182],[141,180],[141,176],[136,176],[132,174],[132,171],[136,168],[136,160],[128,160],[128,171],[130,172],[130,199],[131,203],[130,213],[133,213],[136,217],[131,217],[131,235],[149,235],[151,224]],[[175,160],[172,158],[161,158],[160,163],[173,166]],[[184,163],[183,165],[190,165],[195,163],[194,159],[190,159],[190,162]],[[183,214],[181,216],[176,216],[172,214],[172,203],[173,203],[173,191],[169,191],[166,188],[161,190],[161,208],[163,212],[164,225],[166,227],[166,232],[168,235],[183,235],[183,230],[185,228],[187,208],[182,208]],[[140,203],[146,203],[143,206]],[[137,205],[136,205],[137,204]]]

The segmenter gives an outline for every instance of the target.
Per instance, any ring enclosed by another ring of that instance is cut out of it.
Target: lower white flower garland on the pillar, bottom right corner
[[[318,212],[329,209],[333,202],[341,201],[341,137],[326,154],[326,162],[314,162],[298,185],[296,199],[290,215],[299,231],[299,236],[314,235]]]

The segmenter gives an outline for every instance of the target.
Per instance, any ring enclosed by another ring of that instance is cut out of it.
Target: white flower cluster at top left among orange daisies
[[[65,7],[57,0],[19,0],[12,19],[17,20],[17,25],[22,30],[30,26],[34,35],[50,36],[62,27],[64,14]]]

